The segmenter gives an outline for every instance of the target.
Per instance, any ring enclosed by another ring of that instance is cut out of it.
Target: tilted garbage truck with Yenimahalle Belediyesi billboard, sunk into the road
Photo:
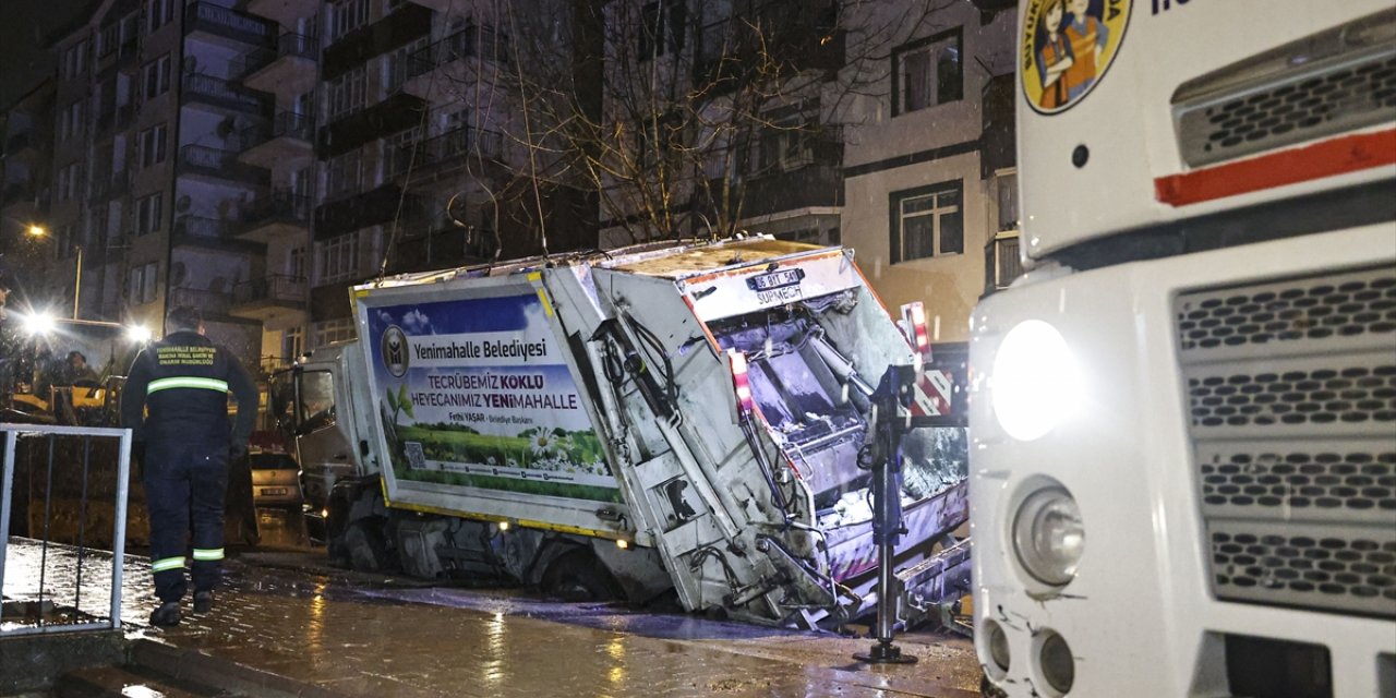
[[[688,610],[771,624],[871,609],[859,452],[871,385],[916,357],[850,251],[666,243],[352,293],[359,339],[283,383],[332,554],[578,596],[673,588]],[[893,592],[916,620],[967,588],[949,537],[965,431],[914,429],[900,455]]]

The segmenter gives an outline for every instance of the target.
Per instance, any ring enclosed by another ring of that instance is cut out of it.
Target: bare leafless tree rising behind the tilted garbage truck
[[[597,193],[610,242],[730,235],[761,208],[762,181],[839,165],[842,128],[866,119],[850,105],[886,94],[892,46],[934,31],[952,1],[511,7],[526,117],[510,138],[535,158],[536,186]]]

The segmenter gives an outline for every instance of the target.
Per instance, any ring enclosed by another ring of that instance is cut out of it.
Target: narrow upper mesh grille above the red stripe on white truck
[[[1392,120],[1396,52],[1325,61],[1174,107],[1182,159],[1212,165]]]

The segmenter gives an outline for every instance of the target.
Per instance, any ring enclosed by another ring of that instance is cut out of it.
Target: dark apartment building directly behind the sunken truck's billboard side
[[[315,4],[247,10],[285,22]],[[353,336],[348,288],[380,274],[537,254],[544,230],[551,253],[596,246],[595,197],[549,176],[561,155],[528,130],[519,92],[535,60],[515,32],[546,17],[570,40],[571,3],[514,6],[324,6],[307,346]]]

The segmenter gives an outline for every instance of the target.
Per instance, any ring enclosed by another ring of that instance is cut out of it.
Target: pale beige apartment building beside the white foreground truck
[[[845,114],[843,244],[888,307],[920,300],[933,341],[963,342],[983,293],[1018,274],[1012,11],[941,3],[905,21],[861,3],[888,34]],[[881,64],[878,64],[881,63]]]

